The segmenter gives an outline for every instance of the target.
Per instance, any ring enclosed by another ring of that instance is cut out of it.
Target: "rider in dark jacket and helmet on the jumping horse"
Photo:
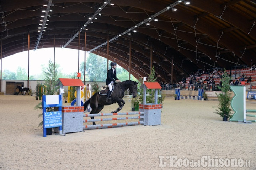
[[[111,66],[111,69],[108,70],[107,79],[106,79],[106,84],[108,85],[108,89],[109,89],[109,91],[107,92],[106,102],[110,100],[110,93],[113,89],[114,82],[115,81],[119,82],[119,79],[116,77],[116,63],[111,62],[110,66]]]

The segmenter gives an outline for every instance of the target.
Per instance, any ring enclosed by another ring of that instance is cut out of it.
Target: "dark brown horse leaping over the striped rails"
[[[131,81],[131,80],[126,80],[119,84],[115,84],[114,88],[113,88],[113,92],[110,96],[111,100],[109,100],[108,102],[106,102],[106,95],[101,95],[100,93],[95,93],[91,98],[89,98],[89,100],[87,100],[84,103],[84,111],[87,108],[89,103],[90,103],[90,107],[92,109],[90,114],[99,113],[104,108],[104,105],[110,105],[110,104],[114,104],[114,103],[118,103],[119,107],[115,111],[112,111],[111,113],[116,113],[116,112],[120,111],[125,104],[125,102],[123,100],[124,92],[127,89],[129,89],[133,95],[133,98],[135,98],[137,96],[137,84],[138,84],[138,82]],[[108,90],[108,87],[106,88],[106,90]],[[94,117],[91,117],[91,119],[94,119]],[[95,122],[93,122],[92,124],[95,125]]]

